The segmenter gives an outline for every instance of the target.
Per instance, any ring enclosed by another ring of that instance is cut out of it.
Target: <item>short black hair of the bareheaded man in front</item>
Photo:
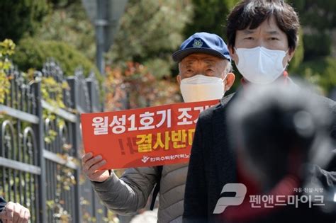
[[[276,25],[286,33],[289,49],[295,50],[298,45],[298,29],[300,22],[293,7],[284,0],[243,0],[228,15],[227,38],[228,47],[235,46],[237,30],[255,29],[266,19],[274,16]]]

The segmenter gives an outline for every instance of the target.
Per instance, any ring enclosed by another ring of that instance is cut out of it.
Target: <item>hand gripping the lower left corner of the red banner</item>
[[[82,157],[83,172],[90,181],[103,182],[110,176],[109,171],[101,171],[99,168],[106,164],[103,157],[93,156],[91,152],[84,154]]]

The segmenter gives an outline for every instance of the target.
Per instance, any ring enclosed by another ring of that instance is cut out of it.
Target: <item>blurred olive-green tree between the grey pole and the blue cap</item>
[[[191,10],[189,0],[128,1],[108,60],[140,62],[155,76],[170,74],[171,55],[184,40]]]

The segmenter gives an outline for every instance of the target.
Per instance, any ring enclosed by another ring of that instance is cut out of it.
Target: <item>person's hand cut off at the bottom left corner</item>
[[[0,197],[0,222],[27,223],[29,219],[30,212],[26,207],[18,203],[6,202]]]

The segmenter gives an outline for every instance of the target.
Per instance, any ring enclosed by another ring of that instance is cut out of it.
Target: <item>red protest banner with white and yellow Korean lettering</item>
[[[198,115],[214,101],[81,115],[85,152],[106,159],[104,169],[189,161]]]

